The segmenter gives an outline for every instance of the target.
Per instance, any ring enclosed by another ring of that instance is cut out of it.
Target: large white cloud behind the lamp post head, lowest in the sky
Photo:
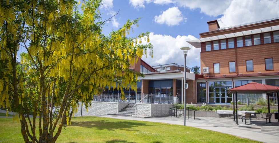
[[[197,49],[187,43],[186,41],[195,40],[192,35],[172,37],[170,35],[158,35],[150,33],[150,43],[153,45],[153,58],[148,56],[142,57],[149,65],[159,65],[168,63],[178,63],[184,65],[183,52],[181,47],[190,47],[190,51],[187,54],[188,67],[194,67],[198,65],[200,67],[200,48]]]

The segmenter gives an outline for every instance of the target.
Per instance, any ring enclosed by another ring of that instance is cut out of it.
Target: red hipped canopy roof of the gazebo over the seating
[[[250,82],[236,88],[231,88],[229,93],[276,93],[279,92],[279,87],[270,86],[266,84],[259,84],[256,82]]]

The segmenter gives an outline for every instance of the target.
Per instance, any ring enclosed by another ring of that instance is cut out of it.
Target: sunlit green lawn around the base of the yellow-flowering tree
[[[0,118],[0,142],[23,142],[20,123]],[[3,132],[5,131],[5,132]],[[75,117],[57,142],[256,142],[188,126],[120,120],[102,117]]]

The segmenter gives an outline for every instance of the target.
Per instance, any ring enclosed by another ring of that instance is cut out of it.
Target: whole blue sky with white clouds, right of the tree
[[[186,41],[208,32],[207,21],[218,20],[220,27],[229,27],[279,17],[279,0],[104,0],[100,11],[108,19],[103,33],[119,29],[127,19],[140,18],[134,33],[151,32],[153,58],[142,59],[149,65],[178,63],[184,65],[181,47],[190,47],[188,67],[200,67],[200,49]],[[133,36],[133,34],[131,34]]]

